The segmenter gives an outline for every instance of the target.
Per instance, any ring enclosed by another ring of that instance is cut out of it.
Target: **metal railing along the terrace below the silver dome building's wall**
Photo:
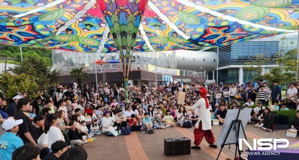
[[[69,67],[69,68],[56,68],[61,73],[61,76],[70,75],[73,69],[79,69],[82,67]],[[88,74],[97,73],[111,73],[111,72],[123,72],[123,67],[121,64],[91,64],[89,66],[83,67],[84,71]],[[142,62],[132,62],[130,71],[149,71],[147,63]],[[205,72],[195,72],[188,70],[179,70],[180,76],[189,76],[194,78],[204,78]]]

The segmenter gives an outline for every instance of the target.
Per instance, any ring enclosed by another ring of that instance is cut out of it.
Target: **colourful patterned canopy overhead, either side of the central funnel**
[[[106,24],[96,0],[0,0],[1,44],[117,52]],[[299,30],[299,0],[149,0],[141,24],[136,52],[198,50]]]

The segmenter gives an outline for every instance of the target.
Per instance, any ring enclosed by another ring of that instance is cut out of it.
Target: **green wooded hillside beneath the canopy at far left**
[[[51,50],[22,47],[23,59],[33,56],[44,61],[49,67],[52,66],[51,53]],[[19,63],[21,60],[20,47],[0,44],[0,62],[3,63],[6,57],[8,60],[12,59],[7,63]]]

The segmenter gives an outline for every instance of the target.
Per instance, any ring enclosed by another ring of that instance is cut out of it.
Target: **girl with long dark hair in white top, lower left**
[[[57,124],[59,123],[58,115],[56,113],[48,114],[45,118],[45,134],[48,134],[48,148],[56,141],[63,141],[64,137]]]

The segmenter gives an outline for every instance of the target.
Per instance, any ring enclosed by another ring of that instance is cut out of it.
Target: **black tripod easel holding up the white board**
[[[221,145],[221,149],[220,149],[220,152],[219,152],[219,154],[218,154],[218,156],[217,156],[217,160],[218,160],[218,158],[219,158],[219,156],[220,156],[220,153],[221,153],[223,147],[224,147],[225,145],[229,145],[229,148],[230,148],[230,145],[232,145],[232,144],[236,144],[236,151],[235,151],[235,159],[234,159],[234,160],[236,160],[236,157],[237,157],[237,151],[238,151],[239,157],[241,158],[241,151],[239,150],[239,133],[240,133],[240,126],[242,127],[242,130],[243,130],[243,133],[244,133],[244,137],[245,137],[245,139],[247,140],[247,138],[246,138],[246,134],[245,134],[245,130],[244,130],[244,127],[243,127],[243,125],[242,125],[242,120],[239,120],[239,115],[240,115],[240,111],[241,111],[241,109],[243,109],[243,108],[242,108],[242,107],[239,107],[239,111],[238,111],[237,118],[236,118],[235,120],[233,120],[233,121],[232,121],[232,124],[230,125],[230,128],[229,128],[229,130],[228,130],[228,132],[227,132],[227,134],[226,134],[226,136],[225,136],[224,142],[223,142],[223,144]],[[237,140],[237,142],[236,142],[236,143],[231,143],[231,144],[225,144],[225,142],[226,142],[226,140],[227,140],[227,138],[228,138],[228,135],[229,135],[230,130],[232,129],[232,127],[234,127],[233,131],[236,132],[236,140]]]

